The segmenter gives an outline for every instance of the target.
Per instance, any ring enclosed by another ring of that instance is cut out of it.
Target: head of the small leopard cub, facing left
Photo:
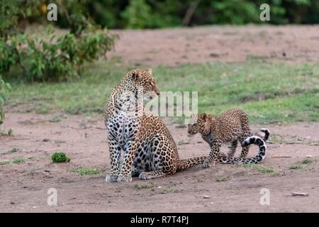
[[[189,135],[201,133],[208,135],[211,132],[211,122],[207,114],[192,114],[188,125]]]

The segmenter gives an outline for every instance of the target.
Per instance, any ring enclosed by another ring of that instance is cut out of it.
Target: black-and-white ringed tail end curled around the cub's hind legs
[[[269,131],[267,130],[269,133]],[[265,135],[265,137],[268,135]],[[246,138],[242,142],[242,146],[248,146],[251,144],[256,144],[259,146],[259,151],[258,154],[255,157],[250,157],[250,158],[241,158],[241,157],[220,157],[220,162],[224,164],[237,164],[237,163],[243,163],[243,164],[249,164],[249,163],[259,163],[264,160],[264,157],[266,157],[266,142],[264,139],[260,138],[259,136],[250,136]]]

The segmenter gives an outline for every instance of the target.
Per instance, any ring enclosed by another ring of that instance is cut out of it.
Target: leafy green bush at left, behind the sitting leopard
[[[42,1],[32,2],[40,5]],[[5,26],[0,33],[0,73],[6,77],[22,75],[22,79],[29,82],[72,79],[79,76],[84,63],[97,60],[111,50],[117,38],[80,13],[68,16],[69,33],[57,36],[48,26],[47,38],[33,38],[19,31],[16,18],[23,18],[17,9],[19,4],[20,1],[1,4],[2,12],[9,11],[3,16]]]

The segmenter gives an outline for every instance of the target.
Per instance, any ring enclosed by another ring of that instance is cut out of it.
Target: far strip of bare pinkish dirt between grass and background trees
[[[269,62],[319,60],[319,26],[208,26],[143,31],[120,35],[110,57],[137,65],[179,65],[202,62]]]

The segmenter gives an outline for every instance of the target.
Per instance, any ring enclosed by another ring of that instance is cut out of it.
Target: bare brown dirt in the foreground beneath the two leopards
[[[55,123],[50,122],[52,118],[55,116],[7,115],[5,127],[14,128],[14,136],[0,138],[0,160],[23,157],[25,162],[0,165],[0,211],[319,211],[319,123],[269,126],[272,135],[286,139],[268,145],[263,165],[278,168],[276,173],[218,164],[209,169],[192,167],[172,177],[106,183],[110,160],[102,118],[67,116]],[[189,138],[186,128],[169,121],[167,125],[179,143],[181,159],[208,154],[208,145],[200,136]],[[261,126],[252,128],[257,132]],[[12,153],[13,148],[19,151]],[[57,150],[67,153],[71,161],[53,164],[50,155]],[[223,152],[226,150],[224,146]],[[250,155],[257,150],[252,147]],[[289,170],[307,155],[312,155],[310,165]],[[103,173],[81,176],[73,171],[78,167]],[[57,206],[47,205],[50,188],[57,189]],[[262,188],[269,189],[269,206],[259,204]],[[291,196],[292,192],[308,196]]]

